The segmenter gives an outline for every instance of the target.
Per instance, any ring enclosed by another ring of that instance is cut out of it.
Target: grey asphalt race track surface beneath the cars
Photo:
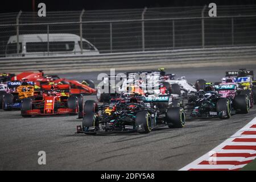
[[[230,68],[167,69],[186,76],[219,81]],[[246,66],[256,70],[256,65]],[[59,74],[61,77],[96,81],[98,72]],[[97,81],[96,81],[97,82]],[[96,96],[86,96],[96,99]],[[20,111],[0,111],[0,170],[177,170],[204,155],[256,117],[187,121],[183,129],[161,129],[150,134],[75,134],[77,116],[22,118]],[[46,152],[46,165],[38,164],[38,152]]]

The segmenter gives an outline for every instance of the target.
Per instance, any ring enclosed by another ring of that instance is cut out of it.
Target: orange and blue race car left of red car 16
[[[0,94],[3,110],[20,109],[23,98],[37,97],[40,94],[31,81],[10,81],[6,85],[8,90]]]

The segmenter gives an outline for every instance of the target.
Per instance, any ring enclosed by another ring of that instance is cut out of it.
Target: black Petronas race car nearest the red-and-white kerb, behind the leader
[[[220,85],[218,90],[233,88],[232,86]],[[234,88],[233,88],[234,89]],[[187,115],[191,118],[230,118],[234,113],[249,112],[249,98],[246,95],[235,95],[225,97],[216,92],[212,85],[205,86],[205,91],[199,91],[195,95],[189,96],[187,102],[182,104]],[[180,106],[179,105],[179,106]],[[233,112],[233,113],[232,113]]]

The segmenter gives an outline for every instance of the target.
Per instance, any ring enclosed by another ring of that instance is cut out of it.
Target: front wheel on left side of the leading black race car
[[[82,118],[82,130],[86,132],[86,134],[96,134],[98,131],[98,116],[95,113],[90,113],[84,115]]]

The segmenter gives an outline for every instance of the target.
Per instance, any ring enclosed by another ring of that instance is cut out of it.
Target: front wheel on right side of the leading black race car
[[[150,133],[152,130],[152,118],[147,111],[141,111],[136,114],[135,124],[138,133]]]

